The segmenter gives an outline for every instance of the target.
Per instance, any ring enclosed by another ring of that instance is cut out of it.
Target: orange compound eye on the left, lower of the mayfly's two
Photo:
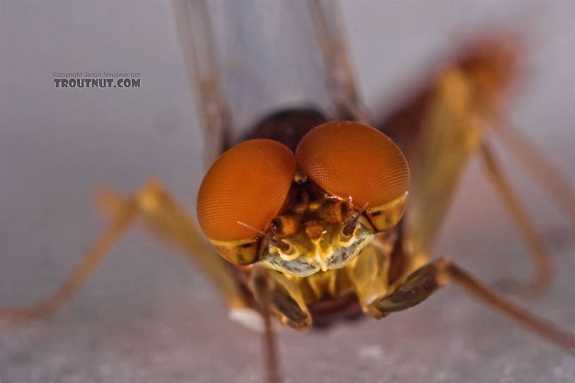
[[[256,260],[259,234],[278,215],[296,170],[294,153],[271,139],[252,139],[225,151],[208,170],[197,218],[221,255],[246,265]]]

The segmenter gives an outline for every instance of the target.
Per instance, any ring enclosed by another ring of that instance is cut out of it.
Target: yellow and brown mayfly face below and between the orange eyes
[[[354,211],[349,201],[321,193],[308,196],[307,185],[299,188],[287,208],[273,220],[271,232],[261,239],[261,263],[288,275],[306,277],[315,272],[342,268],[369,244],[376,232],[371,222]],[[281,222],[287,222],[285,230]]]

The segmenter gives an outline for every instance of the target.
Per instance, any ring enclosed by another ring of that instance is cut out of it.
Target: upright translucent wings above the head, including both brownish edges
[[[235,143],[256,121],[285,108],[366,122],[337,4],[252,5],[173,2],[206,144],[221,149],[226,145],[218,140]]]

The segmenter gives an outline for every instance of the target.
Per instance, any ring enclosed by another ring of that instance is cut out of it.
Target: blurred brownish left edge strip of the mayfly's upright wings
[[[190,88],[203,119],[206,165],[211,165],[230,144],[230,108],[221,88],[208,6],[203,0],[171,4]]]

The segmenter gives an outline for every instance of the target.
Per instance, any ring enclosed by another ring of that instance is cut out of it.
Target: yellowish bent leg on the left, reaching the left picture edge
[[[3,322],[25,322],[49,315],[69,301],[87,278],[109,253],[121,234],[135,221],[142,222],[168,243],[184,251],[207,275],[211,277],[232,314],[238,310],[249,310],[240,295],[233,275],[225,267],[214,249],[204,242],[194,223],[168,195],[159,182],[149,182],[137,194],[122,199],[115,192],[105,192],[100,203],[111,213],[111,224],[94,243],[86,256],[70,272],[61,287],[49,298],[23,308],[0,307],[0,320]]]

